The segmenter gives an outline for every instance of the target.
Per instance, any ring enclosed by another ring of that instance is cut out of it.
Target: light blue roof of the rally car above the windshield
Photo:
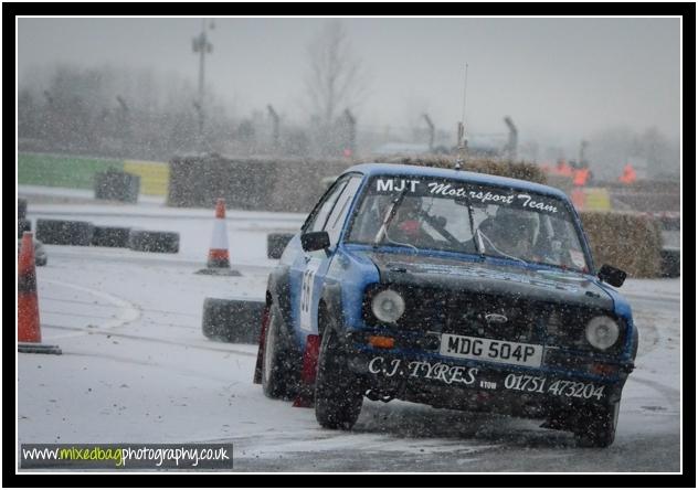
[[[489,173],[467,172],[465,170],[440,169],[424,166],[406,166],[398,163],[361,163],[347,169],[343,173],[360,172],[367,177],[373,175],[414,175],[437,177],[443,179],[474,182],[485,185],[498,185],[524,191],[548,194],[569,201],[567,194],[559,189],[543,185],[527,180],[511,179],[508,177],[490,175]]]

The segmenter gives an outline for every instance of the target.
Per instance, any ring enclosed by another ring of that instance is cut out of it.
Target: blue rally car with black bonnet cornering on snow
[[[269,275],[255,381],[307,390],[322,427],[363,397],[544,419],[613,443],[638,334],[561,191],[360,164],[327,190]]]

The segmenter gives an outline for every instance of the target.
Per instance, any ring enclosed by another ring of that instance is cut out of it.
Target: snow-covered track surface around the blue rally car
[[[194,271],[205,263],[213,210],[88,196],[33,203],[31,191],[34,226],[55,217],[177,231],[181,249],[46,245],[49,264],[38,268],[42,334],[63,355],[18,354],[19,444],[232,441],[235,471],[680,469],[679,279],[631,279],[622,289],[641,347],[609,449],[577,448],[571,435],[535,420],[396,401],[364,401],[356,427],[334,432],[311,409],[268,400],[252,384],[255,345],[201,334],[205,297],[263,297],[275,264],[266,233],[297,230],[304,216],[229,211],[231,259],[242,276],[211,277]]]

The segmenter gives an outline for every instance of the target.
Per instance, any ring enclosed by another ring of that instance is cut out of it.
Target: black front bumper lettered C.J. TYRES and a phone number
[[[581,371],[579,360],[550,349],[541,368],[451,359],[437,352],[376,349],[347,337],[349,369],[373,400],[400,398],[435,407],[546,416],[551,411],[620,401],[632,363],[612,374]],[[569,365],[561,365],[569,359]],[[556,364],[557,363],[557,364]],[[589,360],[585,365],[589,364]]]

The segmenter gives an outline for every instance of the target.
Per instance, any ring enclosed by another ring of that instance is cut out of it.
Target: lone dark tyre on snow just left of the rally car
[[[201,331],[211,340],[257,344],[265,307],[264,300],[205,298]]]

